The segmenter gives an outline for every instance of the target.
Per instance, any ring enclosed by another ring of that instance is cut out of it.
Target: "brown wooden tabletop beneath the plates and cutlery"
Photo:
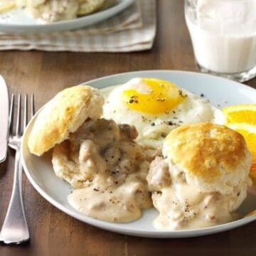
[[[38,109],[56,92],[104,75],[133,70],[196,71],[183,1],[158,1],[158,28],[152,50],[139,53],[0,53],[0,73],[10,92],[35,92]],[[256,88],[256,79],[247,82]],[[0,223],[11,196],[14,152],[0,165]],[[167,255],[177,252],[256,252],[256,222],[201,238],[149,239],[119,235],[94,228],[50,205],[24,177],[23,198],[31,233],[25,245],[0,245],[0,255]],[[254,253],[255,255],[255,253]]]

